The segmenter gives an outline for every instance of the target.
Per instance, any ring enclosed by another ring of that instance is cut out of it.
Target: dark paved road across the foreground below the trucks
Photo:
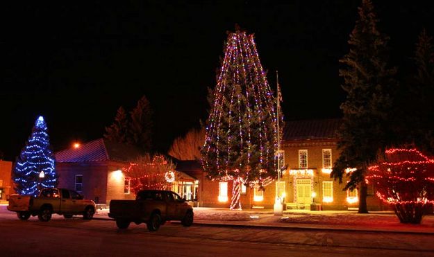
[[[165,224],[157,232],[111,220],[17,220],[0,213],[0,256],[434,256],[432,235],[236,229]]]

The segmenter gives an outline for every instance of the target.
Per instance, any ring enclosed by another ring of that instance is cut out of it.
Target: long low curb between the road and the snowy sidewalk
[[[112,218],[93,218],[93,220],[108,220],[115,221]],[[357,228],[333,228],[333,227],[308,227],[303,226],[294,226],[294,225],[285,225],[285,226],[276,226],[273,224],[234,224],[234,223],[210,223],[205,222],[204,220],[199,220],[193,223],[193,226],[197,227],[232,227],[239,229],[273,229],[273,230],[306,230],[306,231],[343,231],[343,232],[362,232],[362,233],[400,233],[400,234],[408,234],[408,235],[434,235],[433,231],[402,231],[402,230],[384,230],[384,229],[357,229]]]

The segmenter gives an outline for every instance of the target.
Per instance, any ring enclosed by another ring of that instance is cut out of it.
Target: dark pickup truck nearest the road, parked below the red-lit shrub
[[[169,220],[181,220],[183,226],[190,227],[193,207],[172,191],[141,190],[135,200],[111,200],[108,217],[116,220],[119,229],[126,229],[134,222],[146,223],[149,231],[157,231]]]

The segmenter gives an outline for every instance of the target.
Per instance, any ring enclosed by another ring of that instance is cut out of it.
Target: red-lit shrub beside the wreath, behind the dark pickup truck
[[[177,172],[172,161],[161,154],[145,154],[124,168],[125,177],[130,179],[130,189],[137,194],[140,190],[170,190]]]

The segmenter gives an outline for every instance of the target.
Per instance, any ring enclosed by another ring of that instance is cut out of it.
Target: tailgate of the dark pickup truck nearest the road
[[[111,200],[108,217],[137,220],[141,218],[141,212],[140,206],[135,200]]]

